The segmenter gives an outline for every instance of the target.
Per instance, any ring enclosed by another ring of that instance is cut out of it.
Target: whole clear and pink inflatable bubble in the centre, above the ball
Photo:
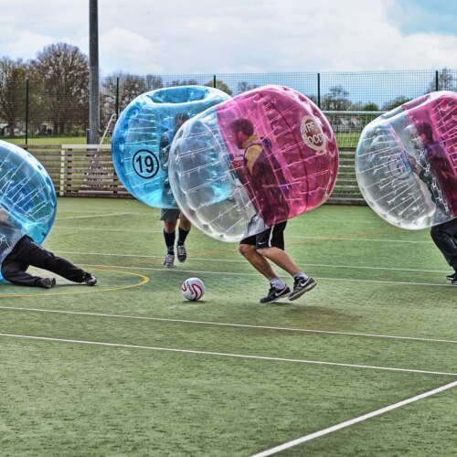
[[[322,205],[337,169],[323,112],[301,93],[271,85],[186,122],[172,144],[169,176],[197,228],[239,241]]]

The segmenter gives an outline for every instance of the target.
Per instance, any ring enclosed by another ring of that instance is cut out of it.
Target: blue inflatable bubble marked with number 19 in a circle
[[[168,180],[168,155],[179,127],[230,97],[206,86],[151,90],[122,112],[112,135],[112,161],[123,186],[151,207],[177,208]]]

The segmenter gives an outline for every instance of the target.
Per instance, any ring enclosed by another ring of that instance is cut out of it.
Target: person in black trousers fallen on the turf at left
[[[0,259],[2,276],[15,285],[43,287],[51,289],[56,286],[55,278],[41,278],[27,273],[28,267],[34,266],[53,271],[72,282],[94,286],[97,279],[88,271],[83,271],[69,260],[56,257],[52,252],[43,249],[33,239],[24,235],[24,231],[10,220],[8,212],[0,208]]]

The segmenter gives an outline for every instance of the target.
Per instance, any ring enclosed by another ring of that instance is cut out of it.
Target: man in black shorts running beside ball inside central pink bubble
[[[256,197],[266,190],[268,198],[264,202],[265,205],[275,205],[276,209],[281,208],[284,218],[286,218],[287,201],[279,191],[277,181],[271,176],[271,167],[279,170],[280,166],[275,165],[268,139],[260,139],[254,133],[252,122],[248,119],[233,121],[230,129],[234,143],[239,149],[244,149],[244,167]],[[274,303],[286,296],[289,297],[289,300],[296,300],[304,292],[311,291],[316,285],[314,279],[303,273],[284,250],[286,224],[287,220],[284,220],[257,235],[241,239],[239,242],[239,253],[270,282],[270,291],[260,299],[260,303]],[[269,260],[292,276],[294,280],[292,292],[290,287],[273,271]]]

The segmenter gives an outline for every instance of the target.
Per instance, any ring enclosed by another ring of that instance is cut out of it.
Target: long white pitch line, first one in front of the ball
[[[154,322],[170,322],[176,324],[198,324],[198,325],[218,325],[221,327],[234,327],[234,328],[255,328],[259,330],[275,330],[282,332],[297,332],[307,334],[325,334],[325,335],[344,335],[344,336],[361,336],[367,338],[386,338],[393,340],[411,340],[420,341],[424,343],[451,343],[457,344],[457,340],[437,339],[437,338],[422,338],[417,336],[397,336],[397,335],[377,335],[377,334],[362,334],[355,332],[338,332],[331,330],[314,330],[307,328],[293,328],[293,327],[276,327],[271,325],[251,325],[251,324],[230,324],[224,322],[211,322],[211,321],[191,321],[186,319],[169,319],[166,317],[148,317],[136,316],[129,314],[108,314],[108,313],[90,313],[87,311],[64,311],[64,310],[46,310],[42,308],[24,308],[20,306],[0,306],[2,310],[12,311],[31,311],[34,313],[50,313],[50,314],[74,314],[74,315],[87,315],[94,317],[112,317],[118,319],[136,319],[139,321],[154,321]]]

